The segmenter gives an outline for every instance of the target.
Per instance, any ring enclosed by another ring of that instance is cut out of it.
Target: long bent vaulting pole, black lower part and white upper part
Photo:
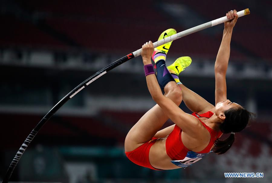
[[[238,17],[244,16],[249,14],[249,9],[245,9],[242,11],[238,11]],[[160,41],[157,41],[155,43],[153,43],[154,48],[161,46],[165,43],[168,43],[170,41],[179,39],[181,37],[187,36],[191,33],[195,33],[199,30],[203,30],[206,29],[208,27],[212,27],[221,23],[224,23],[226,21],[229,21],[228,18],[225,17],[221,17],[218,19],[215,19],[213,21],[207,22],[205,24],[201,24],[198,25],[196,27],[184,30],[182,32],[176,33],[172,36],[169,36],[165,39],[162,39]],[[131,58],[137,57],[141,55],[141,49],[136,50],[135,52],[132,52],[126,56],[124,56],[123,58],[120,58],[119,60],[113,62],[112,64],[108,65],[107,67],[103,68],[102,70],[98,71],[96,74],[93,74],[91,77],[89,77],[88,79],[86,79],[85,81],[83,81],[81,84],[79,84],[75,89],[73,89],[72,91],[70,91],[70,93],[68,93],[65,97],[63,97],[63,99],[61,99],[45,116],[44,118],[42,118],[42,120],[40,120],[40,122],[37,124],[37,126],[31,131],[31,133],[28,135],[28,137],[24,140],[24,143],[21,145],[20,149],[18,150],[18,152],[16,153],[15,157],[13,158],[10,166],[8,167],[8,171],[2,181],[2,183],[7,183],[9,181],[9,178],[11,177],[11,174],[13,172],[13,170],[15,169],[15,166],[17,165],[18,161],[20,160],[21,156],[23,155],[24,151],[26,150],[26,148],[28,147],[28,145],[31,143],[31,141],[33,140],[33,138],[36,136],[36,134],[38,133],[38,131],[43,127],[43,125],[60,109],[61,106],[63,106],[63,104],[65,104],[69,99],[71,99],[73,96],[75,96],[78,92],[80,92],[83,88],[87,87],[89,84],[91,84],[94,80],[98,79],[99,77],[101,77],[102,75],[106,74],[108,71],[112,70],[113,68],[117,67],[118,65],[121,65],[122,63],[127,62],[128,60],[130,60]]]

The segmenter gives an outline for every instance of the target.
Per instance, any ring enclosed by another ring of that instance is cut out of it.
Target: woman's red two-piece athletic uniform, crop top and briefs
[[[182,129],[179,128],[177,125],[175,125],[173,131],[168,135],[166,139],[166,144],[165,144],[166,153],[173,160],[171,161],[173,164],[183,168],[186,168],[187,166],[192,165],[194,162],[197,162],[203,156],[209,153],[215,140],[218,139],[222,135],[221,131],[215,131],[212,128],[209,128],[205,123],[203,123],[199,119],[199,117],[210,118],[213,115],[211,111],[208,111],[200,115],[194,112],[192,115],[198,118],[198,120],[202,123],[202,125],[209,131],[211,135],[211,140],[208,146],[204,150],[200,152],[193,152],[184,146],[181,139]],[[152,140],[144,143],[143,145],[141,145],[140,147],[136,148],[133,151],[125,152],[125,154],[128,157],[128,159],[130,159],[132,162],[134,162],[137,165],[144,166],[154,170],[159,170],[151,166],[149,162],[149,150],[151,146],[156,142],[156,140],[157,138],[153,137]]]

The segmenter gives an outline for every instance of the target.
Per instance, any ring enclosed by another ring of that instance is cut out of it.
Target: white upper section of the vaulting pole
[[[237,12],[238,17],[242,17],[242,16],[247,15],[247,14],[250,14],[250,11],[249,11],[248,8]],[[181,37],[187,36],[189,34],[192,34],[192,33],[198,32],[200,30],[206,29],[208,27],[212,27],[212,26],[215,26],[215,25],[218,25],[218,24],[222,24],[222,23],[224,23],[226,21],[229,21],[227,16],[215,19],[213,21],[209,21],[209,22],[207,22],[205,24],[201,24],[201,25],[198,25],[196,27],[192,27],[190,29],[187,29],[187,30],[184,30],[182,32],[176,33],[176,34],[174,34],[172,36],[169,36],[167,38],[161,39],[160,41],[157,41],[157,42],[153,43],[154,48],[156,48],[158,46],[161,46],[161,45],[163,45],[165,43],[168,43],[170,41],[173,41],[173,40],[179,39]],[[137,56],[141,55],[141,50],[142,49],[138,49],[135,52],[133,52],[134,57],[137,57]]]

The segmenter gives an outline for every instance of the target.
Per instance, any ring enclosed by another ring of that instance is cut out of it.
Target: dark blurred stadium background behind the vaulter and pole
[[[138,57],[66,103],[33,140],[11,181],[272,182],[270,0],[0,2],[0,180],[37,122],[83,80],[168,28],[180,32],[231,9],[249,8],[232,36],[228,98],[257,118],[236,134],[226,154],[168,171],[126,158],[127,132],[155,104]],[[176,40],[167,55],[169,65],[177,57],[192,57],[181,82],[212,104],[222,30],[221,24]],[[190,112],[183,103],[180,107]],[[264,178],[225,178],[223,172],[263,172]]]

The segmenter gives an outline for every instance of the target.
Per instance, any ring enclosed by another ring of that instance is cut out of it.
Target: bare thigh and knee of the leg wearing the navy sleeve
[[[177,106],[180,105],[182,101],[182,91],[176,82],[170,81],[167,83],[164,87],[164,92],[164,95],[173,100]],[[125,151],[132,151],[148,140],[151,140],[167,120],[167,115],[165,115],[160,106],[156,104],[146,112],[128,132],[125,139]]]

